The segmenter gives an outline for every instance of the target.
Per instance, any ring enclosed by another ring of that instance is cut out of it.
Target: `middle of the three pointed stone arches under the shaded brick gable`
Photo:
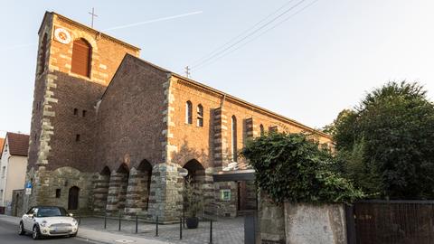
[[[110,174],[109,194],[106,211],[115,214],[124,211],[127,202],[129,168],[120,164],[118,169]]]

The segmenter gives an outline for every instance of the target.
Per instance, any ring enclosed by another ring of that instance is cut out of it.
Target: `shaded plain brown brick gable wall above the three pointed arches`
[[[166,81],[165,71],[126,56],[98,108],[98,172],[122,163],[137,168],[144,159],[162,163]]]

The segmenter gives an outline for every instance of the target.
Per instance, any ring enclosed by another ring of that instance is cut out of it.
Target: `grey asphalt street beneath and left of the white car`
[[[79,230],[80,231],[80,230]],[[49,238],[33,240],[30,234],[20,236],[18,235],[18,227],[9,222],[0,221],[0,244],[21,244],[21,243],[50,243],[50,244],[84,244],[96,243],[78,238]]]

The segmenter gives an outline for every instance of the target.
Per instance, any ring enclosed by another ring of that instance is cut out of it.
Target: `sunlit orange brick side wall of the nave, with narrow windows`
[[[273,115],[266,110],[244,104],[231,97],[223,97],[212,89],[203,89],[193,82],[173,78],[172,93],[173,123],[171,145],[176,145],[173,153],[174,163],[184,165],[190,159],[197,159],[205,168],[219,167],[231,161],[231,117],[237,119],[237,149],[240,151],[247,138],[259,136],[260,125],[266,131],[278,127],[280,132],[298,133],[312,129],[298,125],[286,118]],[[185,102],[193,103],[193,124],[185,123]],[[196,109],[201,104],[204,110],[203,127],[196,126]],[[222,108],[220,108],[222,106]],[[320,143],[330,143],[328,136],[316,137]],[[243,159],[239,158],[239,163]]]

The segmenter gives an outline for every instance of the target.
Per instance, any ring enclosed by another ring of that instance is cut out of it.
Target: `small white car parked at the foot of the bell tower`
[[[79,231],[79,223],[61,207],[37,206],[23,215],[18,233],[31,232],[33,239],[42,236],[71,236]]]

